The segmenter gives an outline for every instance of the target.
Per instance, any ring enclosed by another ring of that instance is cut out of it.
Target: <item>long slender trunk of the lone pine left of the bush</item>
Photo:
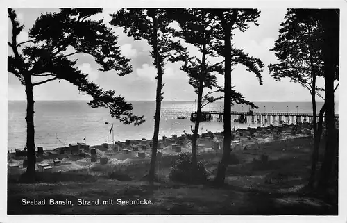
[[[155,161],[157,158],[158,151],[158,136],[159,136],[159,124],[160,124],[160,110],[162,103],[162,63],[160,60],[160,56],[158,55],[158,20],[156,15],[153,17],[153,35],[154,35],[154,60],[155,67],[157,68],[157,92],[155,95],[155,117],[154,117],[154,135],[153,135],[153,148],[152,148],[152,157],[151,157],[151,167],[149,168],[149,183],[153,185],[153,181],[155,178]]]

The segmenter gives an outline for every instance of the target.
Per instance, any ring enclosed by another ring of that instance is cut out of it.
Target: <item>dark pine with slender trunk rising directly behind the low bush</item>
[[[196,165],[196,140],[201,122],[201,110],[206,105],[224,98],[223,96],[214,97],[212,95],[224,92],[223,88],[217,85],[216,77],[216,74],[223,75],[224,61],[210,63],[208,60],[209,58],[219,56],[217,51],[214,51],[215,39],[213,36],[215,26],[217,26],[217,19],[210,9],[175,9],[169,10],[169,13],[180,25],[180,31],[176,32],[175,36],[183,38],[189,44],[193,44],[201,53],[201,58],[183,55],[185,64],[180,68],[188,74],[189,84],[193,86],[196,94],[198,94],[196,119],[194,120],[195,126],[192,129],[192,163]],[[214,90],[203,95],[204,88]],[[250,101],[246,101],[242,94],[232,90],[231,104],[234,102],[248,104],[255,108],[255,105]]]

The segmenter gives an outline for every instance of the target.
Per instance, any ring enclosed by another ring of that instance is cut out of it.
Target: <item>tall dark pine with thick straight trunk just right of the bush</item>
[[[215,9],[212,15],[217,19],[217,28],[214,29],[214,51],[224,57],[224,142],[223,157],[219,162],[217,175],[214,183],[223,184],[226,176],[226,167],[231,151],[231,72],[232,66],[242,64],[248,72],[253,72],[262,84],[262,61],[244,53],[243,50],[235,49],[232,40],[233,30],[239,29],[244,32],[248,29],[248,23],[257,25],[260,12],[255,9]]]

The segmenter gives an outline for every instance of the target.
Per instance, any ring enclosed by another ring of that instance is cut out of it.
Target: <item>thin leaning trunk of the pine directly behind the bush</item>
[[[193,133],[193,140],[192,140],[192,165],[196,167],[197,165],[197,158],[196,158],[196,140],[198,139],[198,128],[201,121],[201,110],[203,106],[203,84],[205,81],[204,75],[205,75],[205,58],[206,58],[206,44],[203,44],[203,58],[202,58],[202,65],[201,65],[201,74],[200,79],[198,83],[198,108],[196,110],[196,119],[195,119],[195,127],[194,127],[194,133]]]

